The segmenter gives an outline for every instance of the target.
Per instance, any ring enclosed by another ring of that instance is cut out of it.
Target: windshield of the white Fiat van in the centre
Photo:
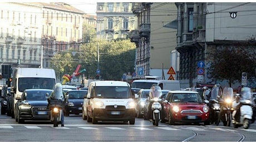
[[[100,99],[129,99],[131,90],[127,86],[97,86],[96,97]]]

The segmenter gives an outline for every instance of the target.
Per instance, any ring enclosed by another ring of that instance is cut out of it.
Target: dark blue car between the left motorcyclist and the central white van
[[[82,114],[83,97],[85,95],[87,95],[87,90],[69,90],[66,92],[65,116]]]

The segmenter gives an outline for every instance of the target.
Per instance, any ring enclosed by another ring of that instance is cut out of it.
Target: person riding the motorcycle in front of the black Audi
[[[67,98],[66,98],[65,92],[62,90],[61,83],[57,83],[55,85],[55,90],[51,94],[50,99],[48,99],[48,104],[50,104],[51,99],[62,101],[61,126],[64,126],[64,113],[63,113],[64,110],[63,109],[65,107],[65,102],[66,102]]]

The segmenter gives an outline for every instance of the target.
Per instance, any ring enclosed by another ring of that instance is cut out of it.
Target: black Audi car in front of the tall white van
[[[51,95],[50,89],[26,89],[15,104],[16,121],[21,124],[25,120],[50,120],[47,94]]]

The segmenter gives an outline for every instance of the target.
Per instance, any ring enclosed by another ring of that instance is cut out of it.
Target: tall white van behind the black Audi
[[[41,68],[16,68],[13,71],[11,93],[13,94],[12,117],[15,116],[16,97],[20,97],[26,89],[54,89],[56,84],[56,74],[53,69]],[[47,87],[43,88],[43,81],[47,82]]]

